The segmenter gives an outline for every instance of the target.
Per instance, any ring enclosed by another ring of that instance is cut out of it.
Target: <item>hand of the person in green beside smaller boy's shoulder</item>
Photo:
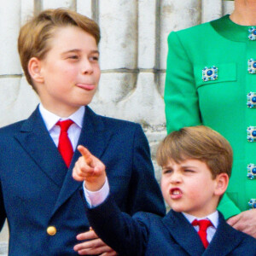
[[[227,220],[234,229],[256,238],[256,209],[241,212]]]

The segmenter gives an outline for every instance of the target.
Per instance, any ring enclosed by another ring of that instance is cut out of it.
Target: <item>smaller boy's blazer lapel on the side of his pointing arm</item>
[[[163,219],[172,237],[191,256],[201,255],[205,248],[194,227],[181,212],[170,211]]]

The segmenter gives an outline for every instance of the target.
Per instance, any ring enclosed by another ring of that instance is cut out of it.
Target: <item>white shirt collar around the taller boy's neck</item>
[[[81,106],[75,113],[64,119],[60,116],[57,116],[55,113],[49,112],[49,110],[44,108],[42,103],[39,104],[39,111],[44,119],[44,123],[48,131],[50,131],[59,120],[66,119],[72,119],[76,125],[79,125],[79,127],[82,128],[85,112],[84,106]]]

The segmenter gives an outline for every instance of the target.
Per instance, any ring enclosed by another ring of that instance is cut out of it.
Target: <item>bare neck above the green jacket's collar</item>
[[[241,26],[256,26],[255,12],[255,0],[236,0],[235,10],[230,15],[230,20]]]

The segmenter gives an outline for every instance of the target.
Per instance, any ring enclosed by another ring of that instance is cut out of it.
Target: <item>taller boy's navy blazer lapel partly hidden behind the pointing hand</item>
[[[102,117],[96,115],[96,113],[94,113],[89,107],[86,107],[84,113],[84,124],[78,145],[83,145],[85,148],[88,148],[91,154],[94,154],[100,159],[108,146],[112,134],[112,131],[106,129]],[[81,182],[75,181],[72,177],[73,166],[80,156],[81,154],[76,149],[52,214],[54,214],[55,211],[61,207],[61,205],[82,185]]]

